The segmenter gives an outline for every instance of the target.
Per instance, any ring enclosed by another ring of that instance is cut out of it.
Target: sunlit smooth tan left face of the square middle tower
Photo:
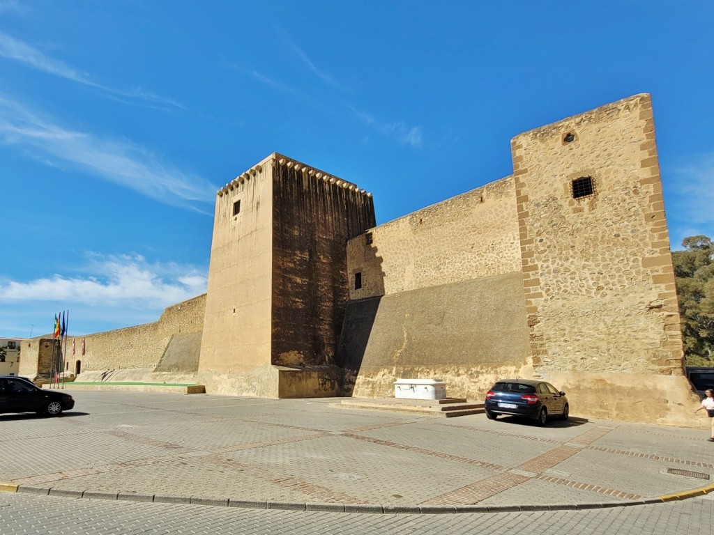
[[[249,374],[271,363],[271,159],[216,195],[199,363],[207,387],[218,375]]]

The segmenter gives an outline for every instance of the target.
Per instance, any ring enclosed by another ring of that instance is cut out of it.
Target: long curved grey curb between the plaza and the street
[[[459,514],[459,513],[518,513],[533,511],[585,511],[588,509],[608,509],[613,507],[630,507],[635,505],[663,504],[668,501],[683,500],[704,496],[714,491],[714,484],[682,491],[675,494],[665,494],[657,498],[646,498],[632,501],[595,501],[583,504],[528,504],[528,505],[454,505],[454,506],[402,506],[376,504],[330,504],[316,502],[290,501],[253,501],[232,498],[217,498],[205,496],[164,496],[161,494],[131,494],[116,492],[77,491],[54,489],[52,487],[19,485],[0,481],[0,492],[17,492],[20,494],[36,494],[39,496],[64,496],[71,498],[106,499],[117,501],[141,501],[155,504],[192,504],[218,507],[241,507],[243,509],[282,509],[289,511],[325,511],[335,513],[363,514]]]

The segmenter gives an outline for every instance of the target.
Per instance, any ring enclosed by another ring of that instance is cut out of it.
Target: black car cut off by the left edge
[[[44,390],[24,377],[0,375],[0,412],[36,412],[57,416],[74,407],[64,392]]]

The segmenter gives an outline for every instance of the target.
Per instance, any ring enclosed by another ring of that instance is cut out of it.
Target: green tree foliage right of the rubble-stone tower
[[[703,235],[673,251],[685,364],[714,366],[714,244]]]

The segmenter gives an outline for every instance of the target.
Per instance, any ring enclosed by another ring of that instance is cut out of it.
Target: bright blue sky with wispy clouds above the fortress
[[[273,151],[378,223],[511,174],[523,131],[651,93],[672,248],[714,238],[710,1],[0,0],[0,335],[206,290],[216,190]]]

